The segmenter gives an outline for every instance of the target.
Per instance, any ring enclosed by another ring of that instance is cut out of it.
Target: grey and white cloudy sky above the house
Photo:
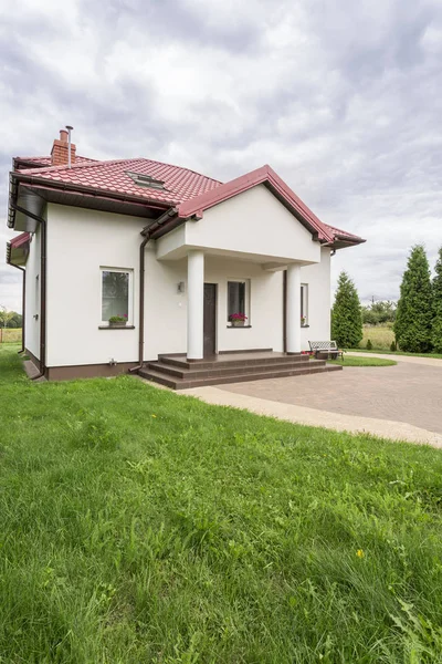
[[[440,0],[15,0],[0,4],[0,245],[12,156],[149,157],[227,180],[269,163],[362,300],[442,245]],[[0,248],[0,304],[20,309]]]

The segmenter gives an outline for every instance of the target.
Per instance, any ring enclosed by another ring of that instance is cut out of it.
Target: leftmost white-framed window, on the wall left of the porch
[[[102,268],[102,321],[112,315],[127,317],[133,321],[133,272],[114,268]]]

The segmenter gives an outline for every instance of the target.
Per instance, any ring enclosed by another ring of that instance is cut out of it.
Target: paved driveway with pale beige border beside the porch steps
[[[187,391],[233,405],[339,430],[442,446],[442,361],[348,366],[341,372],[269,378]]]

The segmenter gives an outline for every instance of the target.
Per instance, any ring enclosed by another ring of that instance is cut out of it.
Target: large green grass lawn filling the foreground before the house
[[[441,452],[133,376],[32,384],[17,350],[0,349],[0,662],[442,661]]]

